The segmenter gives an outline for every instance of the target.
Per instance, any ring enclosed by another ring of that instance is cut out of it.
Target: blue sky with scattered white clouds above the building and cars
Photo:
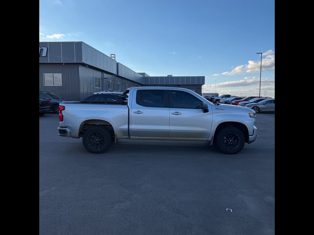
[[[39,41],[83,41],[136,72],[205,76],[203,92],[275,95],[274,0],[40,0]]]

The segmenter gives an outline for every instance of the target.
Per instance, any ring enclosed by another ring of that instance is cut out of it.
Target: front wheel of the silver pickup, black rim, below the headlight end
[[[226,154],[238,153],[243,148],[244,142],[243,133],[233,126],[221,129],[215,141],[219,150]]]

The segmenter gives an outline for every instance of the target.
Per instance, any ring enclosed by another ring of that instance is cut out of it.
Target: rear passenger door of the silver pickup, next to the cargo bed
[[[165,90],[137,90],[133,93],[130,113],[130,137],[167,138],[169,108]]]

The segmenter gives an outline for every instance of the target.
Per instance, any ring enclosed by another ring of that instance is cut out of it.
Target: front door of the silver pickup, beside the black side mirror
[[[201,101],[193,94],[170,90],[169,137],[184,139],[208,139],[212,112],[204,113]]]

